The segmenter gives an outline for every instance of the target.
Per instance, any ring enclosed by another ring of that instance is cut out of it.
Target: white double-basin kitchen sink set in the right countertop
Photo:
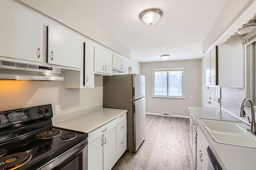
[[[245,123],[212,119],[200,119],[200,121],[218,143],[256,148],[256,136],[246,130],[250,127]]]

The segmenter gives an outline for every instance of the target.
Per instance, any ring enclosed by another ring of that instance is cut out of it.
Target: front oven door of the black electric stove
[[[88,169],[88,141],[76,145],[57,158],[48,162],[38,170],[87,170]]]

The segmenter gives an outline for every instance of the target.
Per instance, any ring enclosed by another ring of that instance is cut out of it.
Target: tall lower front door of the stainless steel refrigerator
[[[145,97],[133,101],[133,127],[134,151],[136,152],[146,137]]]

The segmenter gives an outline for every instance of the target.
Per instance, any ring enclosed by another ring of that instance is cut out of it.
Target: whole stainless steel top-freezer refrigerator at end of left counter
[[[104,76],[103,107],[128,110],[127,150],[136,152],[146,133],[145,76]]]

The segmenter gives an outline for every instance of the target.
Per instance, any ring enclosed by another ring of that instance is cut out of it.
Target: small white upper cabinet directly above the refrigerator
[[[128,63],[126,59],[123,59],[118,55],[113,55],[112,67],[113,70],[116,70],[118,72],[128,72]]]

